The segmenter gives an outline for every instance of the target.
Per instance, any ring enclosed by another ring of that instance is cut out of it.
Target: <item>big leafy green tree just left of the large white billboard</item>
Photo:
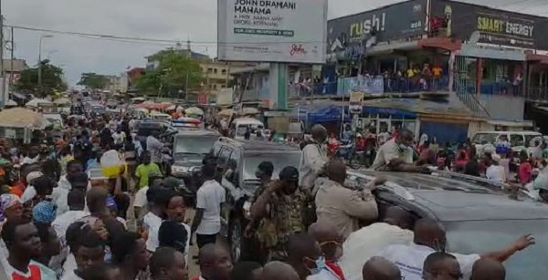
[[[158,61],[158,67],[137,80],[135,87],[143,93],[175,97],[179,90],[190,92],[203,81],[198,62],[177,50],[165,49],[149,58]]]

